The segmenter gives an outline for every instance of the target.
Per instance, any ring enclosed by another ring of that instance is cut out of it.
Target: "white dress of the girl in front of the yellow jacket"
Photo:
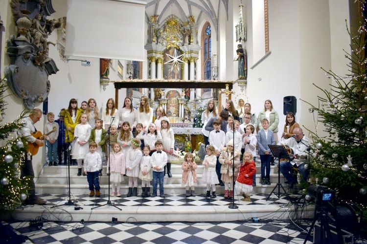
[[[77,124],[74,129],[74,137],[78,137],[72,147],[73,159],[84,159],[89,153],[89,138],[91,137],[92,127],[89,124]],[[86,141],[84,145],[79,145],[79,141]]]

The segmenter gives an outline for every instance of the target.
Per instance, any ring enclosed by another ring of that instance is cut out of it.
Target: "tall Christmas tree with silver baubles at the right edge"
[[[326,71],[333,82],[330,89],[320,87],[324,96],[309,112],[315,121],[310,175],[313,184],[325,185],[336,192],[340,201],[359,205],[367,215],[367,73],[366,19],[361,6],[358,29],[347,26],[351,38],[350,51],[344,50],[349,74]],[[318,132],[318,125],[324,132]],[[322,134],[322,135],[321,135]]]

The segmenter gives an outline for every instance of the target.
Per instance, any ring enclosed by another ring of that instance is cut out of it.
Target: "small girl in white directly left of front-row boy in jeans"
[[[138,127],[137,127],[138,128]],[[141,197],[150,197],[150,181],[153,179],[152,164],[150,163],[150,147],[143,147],[143,156],[140,161],[139,179],[141,179]]]

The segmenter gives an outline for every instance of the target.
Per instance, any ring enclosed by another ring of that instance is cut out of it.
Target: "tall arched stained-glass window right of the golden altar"
[[[203,80],[211,80],[211,27],[206,22],[201,32],[201,77]]]

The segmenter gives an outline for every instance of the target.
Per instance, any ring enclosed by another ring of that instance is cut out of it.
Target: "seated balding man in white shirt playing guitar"
[[[304,160],[307,158],[307,149],[309,139],[304,136],[301,128],[297,127],[293,130],[294,137],[290,137],[284,141],[278,142],[278,145],[288,146],[293,150],[294,159],[291,162],[281,161],[280,172],[288,180],[290,188],[294,188],[294,184],[297,184],[297,179],[292,175],[292,169],[296,168],[299,170],[303,180],[308,180],[309,171],[304,168]],[[303,144],[303,143],[304,144]]]

